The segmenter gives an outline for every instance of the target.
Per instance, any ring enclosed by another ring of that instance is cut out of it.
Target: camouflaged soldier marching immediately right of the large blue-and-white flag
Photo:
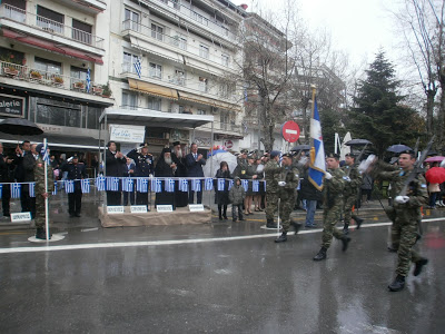
[[[339,156],[329,154],[326,158],[327,171],[325,174],[324,198],[323,198],[323,237],[322,249],[314,257],[314,261],[326,258],[326,252],[330,246],[333,236],[343,243],[343,252],[348,247],[350,238],[340,233],[335,225],[343,212],[343,191],[348,177],[339,168]]]

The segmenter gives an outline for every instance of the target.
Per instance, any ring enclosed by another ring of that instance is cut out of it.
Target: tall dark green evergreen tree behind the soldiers
[[[366,70],[366,80],[359,82],[354,99],[357,107],[350,111],[353,138],[370,140],[380,157],[393,144],[414,145],[424,124],[415,110],[400,104],[404,97],[397,92],[400,82],[394,72],[384,51],[379,51]]]

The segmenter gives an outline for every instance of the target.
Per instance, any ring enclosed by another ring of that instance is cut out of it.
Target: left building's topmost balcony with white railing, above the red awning
[[[63,23],[50,20],[41,16],[27,12],[22,9],[16,8],[7,3],[0,6],[0,19],[2,19],[1,24],[3,27],[10,27],[16,30],[22,30],[23,32],[27,33],[29,33],[29,27],[31,27],[37,29],[37,31],[33,32],[33,35],[37,36],[40,36],[39,31],[46,31],[55,36],[63,37],[70,40],[67,41],[67,43],[72,47],[76,47],[76,45],[72,45],[72,41],[76,41],[81,45],[97,49],[103,48],[103,38],[72,28],[70,26],[66,26]],[[12,24],[11,21],[13,23],[19,23],[19,24]],[[101,55],[101,52],[99,52],[99,55]]]

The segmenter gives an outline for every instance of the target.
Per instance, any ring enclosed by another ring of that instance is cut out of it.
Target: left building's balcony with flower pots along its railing
[[[105,87],[100,84],[87,79],[63,76],[57,72],[42,71],[28,66],[12,62],[0,61],[0,77],[30,84],[41,85],[51,88],[78,91],[82,94],[109,97],[106,95]],[[18,85],[19,86],[19,85]]]

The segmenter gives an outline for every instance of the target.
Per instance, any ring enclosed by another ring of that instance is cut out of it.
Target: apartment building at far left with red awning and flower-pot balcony
[[[97,147],[99,116],[115,104],[108,10],[101,0],[2,0],[0,117],[34,121],[53,149]],[[0,134],[3,143],[17,139]]]

